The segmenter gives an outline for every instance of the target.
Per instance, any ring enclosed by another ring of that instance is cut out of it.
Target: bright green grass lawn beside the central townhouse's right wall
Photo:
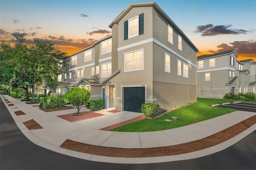
[[[234,102],[237,100],[232,99],[206,99],[198,98],[198,102],[188,106],[181,107],[179,109],[165,113],[164,115],[154,119],[143,119],[141,121],[133,122],[128,125],[117,127],[111,131],[119,132],[150,132],[157,130],[166,130],[170,128],[182,127],[190,125],[200,121],[205,121],[225,115],[230,112],[236,111],[236,109],[227,109],[222,107],[212,107],[210,105]],[[178,117],[178,121],[164,121],[165,119],[171,119],[170,117]]]

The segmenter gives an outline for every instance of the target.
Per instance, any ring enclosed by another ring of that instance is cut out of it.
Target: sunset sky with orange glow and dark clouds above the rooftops
[[[51,40],[68,55],[111,34],[108,25],[131,3],[150,0],[1,0],[0,40],[25,33]],[[236,49],[256,61],[255,0],[155,0],[199,49],[198,56]]]

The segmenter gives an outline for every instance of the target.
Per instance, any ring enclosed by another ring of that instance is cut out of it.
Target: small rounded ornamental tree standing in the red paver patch
[[[68,99],[69,103],[76,106],[77,113],[83,105],[86,105],[91,97],[90,91],[86,88],[75,88],[65,93],[65,98]]]

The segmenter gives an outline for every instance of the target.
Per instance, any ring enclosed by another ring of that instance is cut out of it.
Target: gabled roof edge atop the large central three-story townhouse
[[[109,27],[112,28],[114,24],[118,24],[122,18],[134,7],[143,7],[143,6],[152,6],[154,9],[156,9],[169,23],[170,25],[179,32],[179,34],[196,50],[197,47],[188,39],[188,37],[178,28],[178,26],[170,19],[169,16],[166,15],[166,13],[155,3],[155,2],[140,2],[140,3],[133,3],[130,4],[125,10],[123,10],[110,24]]]

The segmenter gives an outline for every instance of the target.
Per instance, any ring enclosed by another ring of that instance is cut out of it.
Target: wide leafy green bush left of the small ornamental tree
[[[65,105],[62,99],[59,99],[58,96],[46,96],[40,97],[40,109],[49,109],[49,108],[57,108]]]

